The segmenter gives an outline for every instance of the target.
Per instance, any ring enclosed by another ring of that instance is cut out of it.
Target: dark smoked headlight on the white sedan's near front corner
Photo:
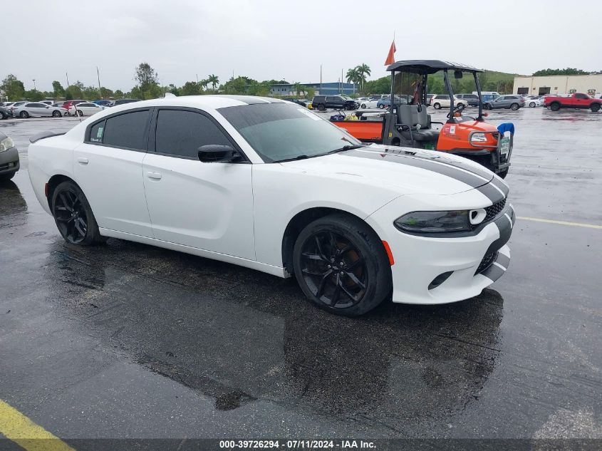
[[[395,219],[395,227],[405,232],[440,233],[470,230],[468,210],[451,212],[411,212]]]

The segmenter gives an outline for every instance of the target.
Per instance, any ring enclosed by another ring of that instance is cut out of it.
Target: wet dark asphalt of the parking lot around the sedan
[[[602,224],[602,113],[493,111],[517,127],[519,217]],[[519,219],[507,273],[446,306],[361,318],[294,279],[109,239],[66,244],[28,138],[0,187],[0,399],[58,437],[602,438],[602,229]]]

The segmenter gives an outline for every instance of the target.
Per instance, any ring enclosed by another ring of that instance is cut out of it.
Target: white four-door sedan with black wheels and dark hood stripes
[[[113,237],[294,275],[333,313],[468,299],[509,265],[499,177],[362,144],[283,100],[145,100],[31,141],[33,190],[67,242]]]

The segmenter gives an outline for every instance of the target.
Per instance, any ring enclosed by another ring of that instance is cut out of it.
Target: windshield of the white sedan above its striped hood
[[[219,108],[264,162],[316,157],[360,142],[298,105],[259,103]]]

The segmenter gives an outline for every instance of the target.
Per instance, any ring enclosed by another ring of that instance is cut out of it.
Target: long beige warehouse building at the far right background
[[[602,74],[583,76],[543,76],[543,77],[514,77],[514,94],[544,95],[602,93]]]

